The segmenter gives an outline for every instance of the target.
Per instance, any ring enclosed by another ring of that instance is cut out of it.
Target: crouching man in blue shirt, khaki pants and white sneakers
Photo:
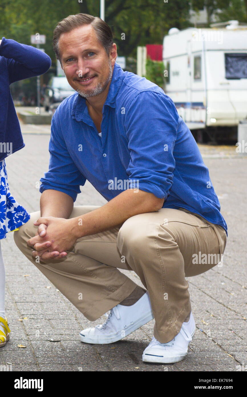
[[[52,118],[40,211],[15,243],[88,320],[110,310],[82,342],[113,343],[155,318],[143,361],[180,361],[195,332],[186,277],[215,266],[193,259],[221,256],[227,239],[209,171],[172,100],[115,63],[104,21],[69,15],[54,51],[77,92]],[[87,179],[107,204],[73,205]]]

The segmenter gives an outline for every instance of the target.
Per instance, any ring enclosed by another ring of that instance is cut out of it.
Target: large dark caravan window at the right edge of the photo
[[[247,54],[225,54],[226,79],[247,79]]]

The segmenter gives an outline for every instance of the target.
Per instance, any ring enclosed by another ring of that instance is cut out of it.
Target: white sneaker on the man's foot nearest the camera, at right
[[[182,328],[174,339],[167,343],[160,343],[153,336],[142,355],[144,362],[172,363],[182,361],[188,353],[188,345],[195,333],[195,320],[192,312],[190,320],[182,324]]]

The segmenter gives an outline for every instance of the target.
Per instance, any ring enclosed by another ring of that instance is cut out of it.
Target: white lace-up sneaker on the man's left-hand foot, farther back
[[[117,304],[110,311],[106,322],[95,328],[80,331],[80,340],[85,343],[113,343],[123,339],[153,319],[153,312],[146,292],[131,306]]]

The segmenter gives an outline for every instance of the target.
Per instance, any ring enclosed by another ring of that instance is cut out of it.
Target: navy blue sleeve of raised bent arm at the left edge
[[[52,64],[51,58],[38,48],[5,37],[0,44],[0,56],[7,58],[9,84],[42,75]]]

